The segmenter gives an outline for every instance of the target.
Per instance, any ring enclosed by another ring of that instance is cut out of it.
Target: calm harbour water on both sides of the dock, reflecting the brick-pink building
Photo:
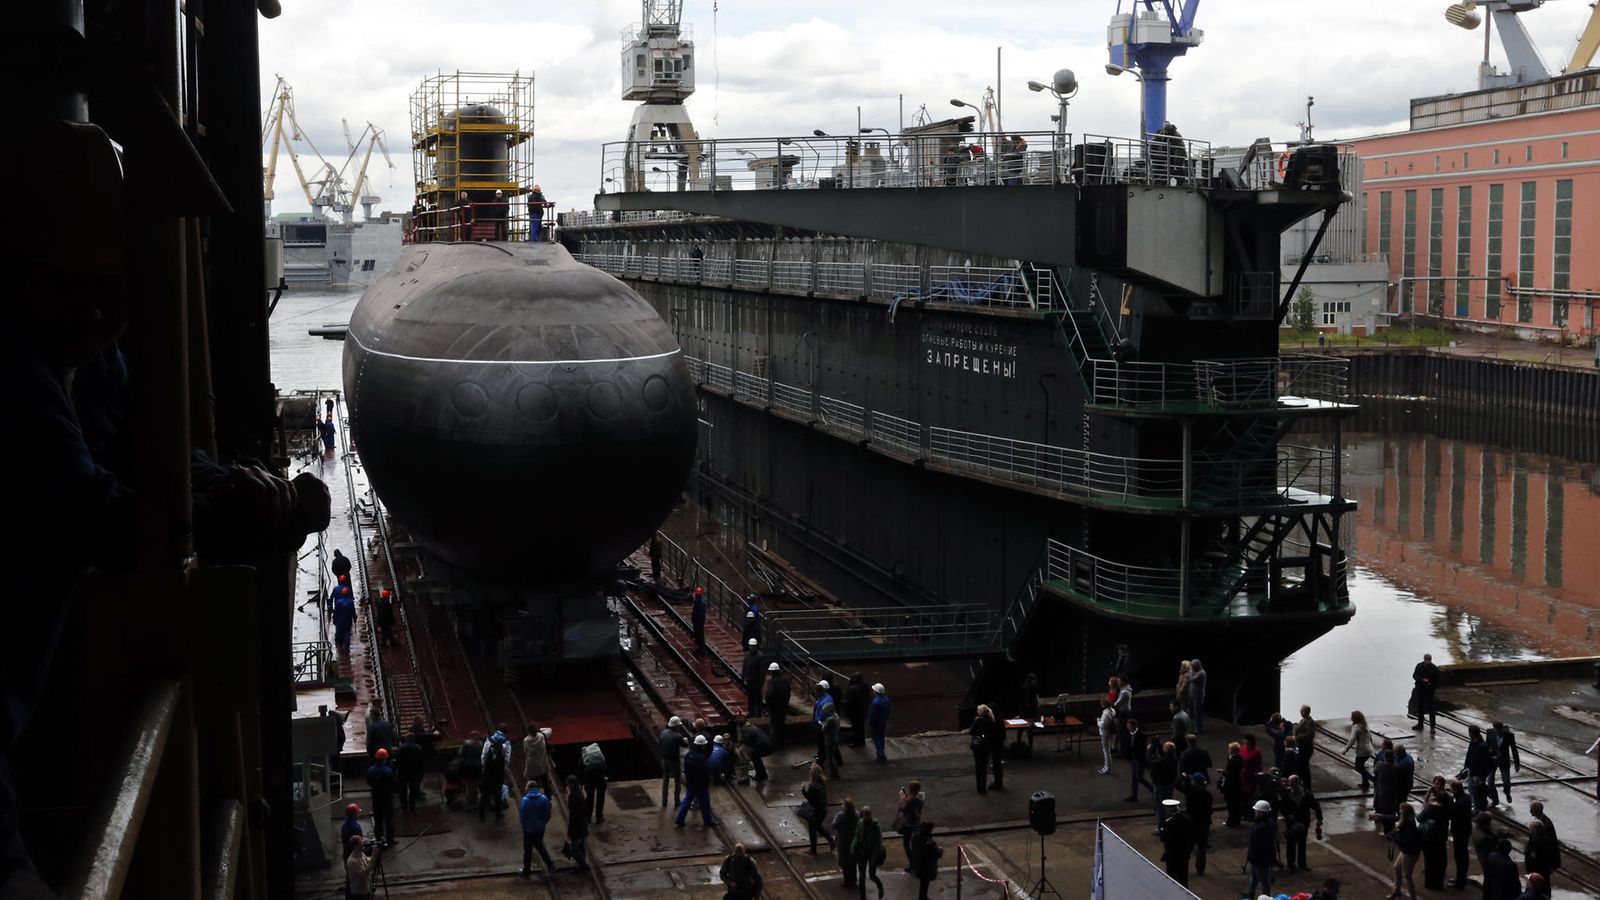
[[[341,389],[344,344],[306,330],[349,322],[358,298],[283,295],[270,322],[280,389]],[[1430,434],[1349,434],[1346,450],[1346,485],[1360,501],[1350,575],[1357,613],[1285,660],[1285,709],[1310,703],[1323,717],[1402,711],[1422,653],[1443,665],[1597,652],[1589,621],[1600,610],[1600,474],[1592,463]],[[318,466],[342,488],[342,468]]]

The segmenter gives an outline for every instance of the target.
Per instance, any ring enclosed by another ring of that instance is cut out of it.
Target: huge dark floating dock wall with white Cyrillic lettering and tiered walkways
[[[1354,613],[1346,362],[1277,352],[1278,235],[1347,200],[1306,154],[1259,184],[1192,144],[1066,138],[874,176],[896,187],[603,194],[562,240],[674,323],[696,496],[749,541],[856,607],[989,605],[974,697],[1021,671],[1094,690],[1128,642],[1141,681],[1198,657],[1248,714]],[[1282,444],[1306,416],[1331,447]]]

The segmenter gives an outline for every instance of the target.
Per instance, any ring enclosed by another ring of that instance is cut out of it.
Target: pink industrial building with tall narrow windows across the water
[[[1389,311],[1595,333],[1600,72],[1411,101],[1411,128],[1352,141]]]

